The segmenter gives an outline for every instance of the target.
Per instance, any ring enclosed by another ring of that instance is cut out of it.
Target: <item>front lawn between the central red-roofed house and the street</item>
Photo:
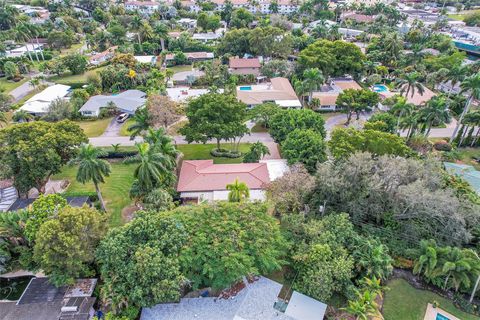
[[[215,148],[215,144],[179,144],[177,149],[184,155],[184,160],[203,160],[213,159],[214,163],[241,163],[243,158],[213,158],[210,154],[210,150]],[[231,149],[231,144],[222,144],[222,148]],[[242,153],[246,153],[250,150],[250,144],[240,143],[239,150]]]

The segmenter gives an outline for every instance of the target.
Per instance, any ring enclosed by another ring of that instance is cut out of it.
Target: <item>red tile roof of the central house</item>
[[[213,164],[213,160],[185,160],[178,179],[178,192],[226,190],[235,179],[250,189],[263,189],[270,182],[266,163]]]

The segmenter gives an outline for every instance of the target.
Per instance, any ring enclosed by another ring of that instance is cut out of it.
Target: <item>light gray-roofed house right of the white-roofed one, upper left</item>
[[[121,111],[133,115],[137,109],[143,107],[147,101],[146,93],[140,90],[127,90],[117,95],[96,95],[90,97],[88,101],[78,110],[83,116],[98,117],[100,109],[108,104],[114,103]]]

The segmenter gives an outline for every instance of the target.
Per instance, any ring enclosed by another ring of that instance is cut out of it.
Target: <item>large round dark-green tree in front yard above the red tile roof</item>
[[[206,143],[210,139],[236,140],[248,132],[244,121],[247,118],[246,105],[233,95],[207,93],[188,103],[188,123],[180,129],[188,143]]]

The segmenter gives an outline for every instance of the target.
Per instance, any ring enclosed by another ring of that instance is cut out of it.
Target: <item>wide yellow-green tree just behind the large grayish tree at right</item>
[[[370,152],[375,156],[391,154],[406,156],[410,149],[397,135],[375,131],[356,130],[354,128],[335,129],[328,142],[330,152],[337,158],[348,158],[355,152]]]

